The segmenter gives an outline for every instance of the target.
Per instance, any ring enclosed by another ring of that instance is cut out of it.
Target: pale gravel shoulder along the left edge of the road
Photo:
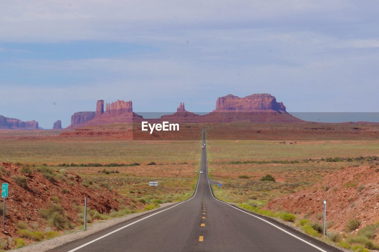
[[[74,230],[74,231],[72,231],[66,235],[61,235],[61,236],[55,237],[53,239],[41,241],[40,243],[34,243],[34,244],[29,245],[29,246],[22,247],[20,249],[13,249],[12,251],[17,251],[17,252],[30,252],[30,251],[44,252],[46,250],[53,249],[55,247],[61,246],[61,245],[68,243],[70,241],[74,241],[76,239],[81,239],[81,238],[86,237],[88,235],[91,235],[93,233],[99,232],[100,230],[103,230],[105,228],[119,224],[119,223],[124,222],[126,220],[133,219],[135,217],[141,216],[141,215],[146,214],[146,213],[155,212],[161,208],[164,208],[164,207],[169,206],[169,205],[173,205],[175,203],[177,203],[177,202],[162,203],[162,204],[159,204],[160,206],[158,208],[154,208],[154,209],[149,210],[149,211],[143,211],[141,213],[128,214],[127,216],[118,217],[118,218],[114,218],[114,219],[110,219],[110,220],[103,220],[101,222],[96,222],[94,224],[89,225],[86,231]]]

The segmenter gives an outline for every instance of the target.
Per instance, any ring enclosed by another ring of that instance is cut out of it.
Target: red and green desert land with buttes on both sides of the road
[[[10,188],[3,249],[83,228],[84,197],[89,223],[191,197],[203,130],[220,200],[282,218],[314,237],[322,234],[327,200],[323,241],[379,248],[379,124],[307,122],[271,95],[228,95],[208,115],[181,103],[173,115],[149,119],[174,120],[182,129],[149,136],[134,125],[142,117],[132,102],[103,106],[98,101],[96,112],[74,113],[66,129],[60,121],[53,130],[25,131],[13,121],[3,126],[0,169]],[[154,192],[149,181],[159,183]]]

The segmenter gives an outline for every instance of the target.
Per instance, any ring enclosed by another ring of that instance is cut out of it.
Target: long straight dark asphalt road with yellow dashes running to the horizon
[[[340,251],[275,220],[214,198],[206,148],[202,149],[200,171],[204,173],[198,173],[192,198],[49,251]]]

